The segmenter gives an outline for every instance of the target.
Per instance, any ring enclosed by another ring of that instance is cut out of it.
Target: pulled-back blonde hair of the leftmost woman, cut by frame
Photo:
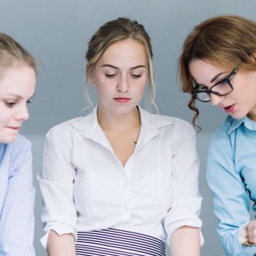
[[[36,73],[36,62],[32,55],[12,37],[0,33],[0,79],[12,66],[30,66]]]

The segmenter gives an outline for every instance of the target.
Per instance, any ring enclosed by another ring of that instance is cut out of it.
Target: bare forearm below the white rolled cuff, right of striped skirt
[[[199,256],[200,232],[198,228],[183,226],[176,229],[169,240],[172,256]]]

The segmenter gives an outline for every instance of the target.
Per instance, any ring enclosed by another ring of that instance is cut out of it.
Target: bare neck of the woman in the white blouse
[[[98,107],[97,117],[102,130],[127,130],[134,126],[140,126],[140,112],[138,108],[134,108],[131,112],[123,115],[109,115]]]

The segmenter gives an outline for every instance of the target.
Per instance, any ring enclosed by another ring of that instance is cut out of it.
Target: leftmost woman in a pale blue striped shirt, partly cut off
[[[19,135],[34,95],[34,58],[0,34],[0,255],[35,255],[31,144]]]

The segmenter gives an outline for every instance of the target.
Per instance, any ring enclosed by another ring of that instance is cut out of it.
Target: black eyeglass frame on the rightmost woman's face
[[[226,96],[227,94],[230,94],[232,91],[233,91],[233,86],[230,82],[230,80],[233,78],[233,76],[237,73],[238,69],[233,69],[228,76],[224,77],[222,80],[220,80],[218,83],[212,85],[212,87],[209,89],[209,90],[205,90],[205,91],[197,91],[197,88],[198,87],[207,87],[206,85],[204,84],[196,84],[193,91],[191,92],[191,94],[193,95],[193,98],[197,99],[198,101],[202,101],[202,102],[209,102],[211,101],[211,94],[215,94],[215,95],[218,95],[218,96]],[[229,86],[231,87],[231,91],[229,91],[228,93],[226,94],[220,94],[219,92],[217,91],[212,91],[212,88],[217,86],[218,84],[222,84],[223,82],[229,84]],[[201,100],[200,98],[197,98],[197,94],[200,94],[200,93],[204,93],[204,94],[208,94],[209,95],[209,100],[207,101],[204,101],[204,100]]]

